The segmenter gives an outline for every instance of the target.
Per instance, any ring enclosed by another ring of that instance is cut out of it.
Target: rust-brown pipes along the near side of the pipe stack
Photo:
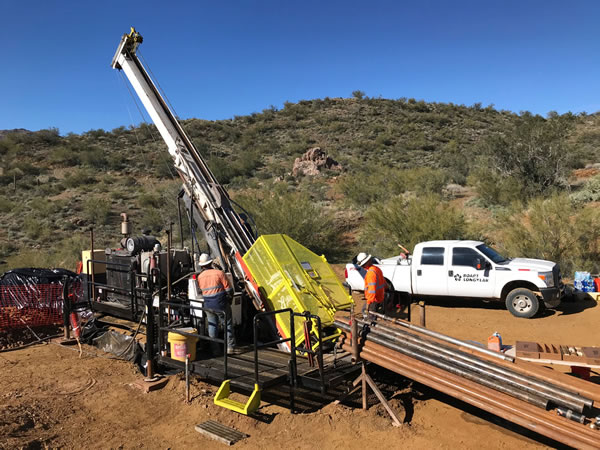
[[[363,347],[361,357],[365,360],[566,445],[576,448],[600,448],[598,434],[586,427],[575,424],[577,428],[570,428],[565,426],[564,419],[560,422],[556,421],[558,416],[551,412],[540,410],[506,394],[471,383],[426,363],[415,361],[413,358],[401,354],[395,354],[395,357],[390,358],[382,353],[381,346],[371,343],[368,345],[377,348]],[[350,346],[346,343],[343,348],[350,350]]]

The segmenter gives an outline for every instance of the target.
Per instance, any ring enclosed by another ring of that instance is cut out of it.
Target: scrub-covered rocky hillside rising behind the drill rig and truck
[[[459,228],[439,223],[437,230],[425,230],[419,238],[446,230],[443,236],[458,233],[496,241],[485,225],[508,211],[514,199],[511,189],[529,189],[530,184],[520,180],[514,164],[507,172],[509,166],[494,159],[504,148],[494,139],[518,149],[535,134],[523,131],[525,122],[545,130],[540,139],[551,144],[560,140],[561,152],[570,155],[560,160],[560,173],[536,172],[535,167],[552,165],[538,161],[531,169],[537,190],[531,192],[573,195],[574,186],[580,186],[591,189],[585,200],[589,206],[595,199],[593,186],[565,173],[599,160],[599,120],[596,115],[554,114],[544,119],[477,104],[325,98],[231,120],[190,119],[184,128],[216,177],[257,216],[261,231],[295,234],[344,260],[359,245],[374,246],[368,227],[376,214],[370,208],[392,198],[410,206],[412,199],[433,196],[436,208],[458,207]],[[544,153],[540,139],[535,145]],[[343,170],[330,165],[318,175],[294,172],[294,161],[315,147]],[[593,178],[593,170],[587,178]],[[496,180],[491,193],[485,185],[489,180]],[[152,125],[66,136],[56,129],[0,131],[0,271],[26,265],[72,267],[81,248],[89,246],[90,227],[99,247],[116,244],[121,212],[129,213],[136,231],[151,227],[160,234],[158,230],[176,221],[178,189],[168,153]],[[508,194],[503,197],[503,192]],[[296,211],[297,205],[305,207]],[[520,207],[524,211],[526,204]],[[290,218],[290,211],[296,211],[291,214],[295,217]],[[321,222],[313,223],[311,217]],[[394,233],[412,242],[415,226],[398,225]]]

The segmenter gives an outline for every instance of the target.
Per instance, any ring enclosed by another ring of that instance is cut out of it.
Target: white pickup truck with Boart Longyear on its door
[[[501,300],[517,317],[533,317],[542,305],[555,308],[564,294],[558,264],[541,259],[507,259],[480,241],[421,242],[407,258],[376,261],[388,289],[409,298]],[[362,267],[346,265],[346,283],[352,290],[364,290],[364,275]]]

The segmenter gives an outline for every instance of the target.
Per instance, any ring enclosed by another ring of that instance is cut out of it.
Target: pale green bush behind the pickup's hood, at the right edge
[[[561,264],[563,273],[600,270],[600,211],[578,207],[565,194],[531,200],[498,218],[498,245],[507,256]]]

